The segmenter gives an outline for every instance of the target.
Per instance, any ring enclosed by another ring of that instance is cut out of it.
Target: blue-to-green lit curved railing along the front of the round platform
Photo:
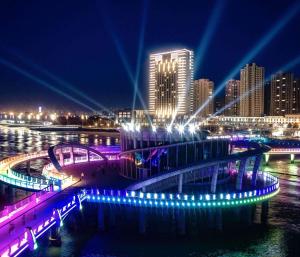
[[[178,193],[144,193],[132,190],[86,190],[88,201],[105,202],[110,204],[137,204],[147,206],[180,206],[180,207],[217,207],[254,203],[270,198],[279,191],[278,179],[269,174],[261,173],[260,176],[268,181],[268,185],[245,191],[178,194]]]

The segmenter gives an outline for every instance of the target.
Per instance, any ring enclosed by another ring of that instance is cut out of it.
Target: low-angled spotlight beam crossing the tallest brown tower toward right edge
[[[293,68],[294,66],[297,66],[300,63],[300,55],[298,57],[296,57],[295,59],[293,59],[292,61],[290,61],[289,63],[281,66],[279,69],[277,69],[278,71],[285,71],[288,70],[290,68]],[[266,78],[266,81],[271,79],[272,75],[269,75]],[[260,87],[263,87],[263,84],[258,84],[256,85],[254,88],[248,90],[247,92],[245,92],[244,94],[242,94],[240,97],[236,98],[235,100],[231,101],[230,103],[228,103],[227,105],[225,105],[223,108],[221,108],[220,110],[218,110],[217,112],[215,112],[210,118],[216,117],[218,114],[222,113],[223,111],[225,111],[226,109],[228,109],[229,107],[231,107],[232,105],[234,105],[235,103],[239,102],[240,100],[244,99],[246,96],[250,95],[252,92],[254,92],[256,89],[259,89]],[[210,119],[208,118],[208,119]]]

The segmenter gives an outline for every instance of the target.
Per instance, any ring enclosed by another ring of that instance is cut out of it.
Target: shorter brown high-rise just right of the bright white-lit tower
[[[203,104],[205,104],[205,107],[203,107],[203,109],[198,113],[198,116],[207,117],[214,113],[214,99],[212,99],[213,91],[214,82],[209,79],[198,79],[194,81],[192,89],[193,113],[201,108]]]

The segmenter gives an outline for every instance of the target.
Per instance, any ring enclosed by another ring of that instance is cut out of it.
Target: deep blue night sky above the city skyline
[[[218,5],[221,7],[213,29],[209,21]],[[139,89],[146,102],[149,53],[176,47],[197,51],[203,35],[210,33],[195,78],[209,78],[218,86],[276,22],[299,5],[300,1],[288,0],[236,0],[224,1],[223,5],[187,0],[3,0],[0,3],[0,109],[43,105],[87,110],[3,62],[94,109],[98,109],[95,104],[68,92],[42,69],[102,105],[131,107],[133,85],[128,70],[135,77],[143,19]],[[207,30],[209,24],[211,30]],[[128,69],[121,61],[116,42],[124,50]],[[300,10],[249,61],[264,66],[268,75],[299,55]],[[300,76],[300,64],[291,71]]]

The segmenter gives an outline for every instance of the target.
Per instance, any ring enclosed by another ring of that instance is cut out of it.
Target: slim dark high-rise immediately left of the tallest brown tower
[[[239,116],[240,115],[240,81],[231,79],[228,80],[225,87],[225,115]],[[227,107],[228,106],[228,107]]]

